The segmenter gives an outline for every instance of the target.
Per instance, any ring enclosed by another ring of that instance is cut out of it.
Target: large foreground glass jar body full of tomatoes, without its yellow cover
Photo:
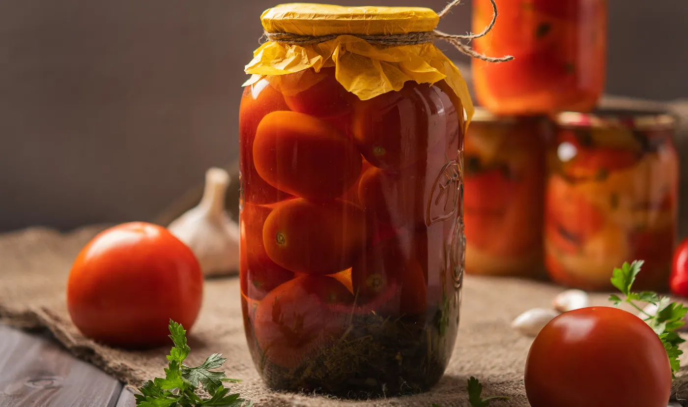
[[[240,110],[241,301],[266,384],[427,390],[459,319],[459,99],[409,82],[361,101],[323,68],[261,79]]]

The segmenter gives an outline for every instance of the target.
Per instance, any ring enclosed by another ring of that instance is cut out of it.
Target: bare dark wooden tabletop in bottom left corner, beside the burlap
[[[121,390],[52,340],[0,325],[0,407],[115,407]]]

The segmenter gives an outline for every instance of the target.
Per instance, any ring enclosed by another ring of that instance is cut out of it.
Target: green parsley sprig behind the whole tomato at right
[[[671,374],[676,377],[676,372],[680,368],[678,357],[683,354],[678,345],[685,342],[685,340],[678,336],[676,330],[685,324],[683,317],[688,312],[688,308],[680,302],[671,302],[668,297],[660,297],[652,291],[641,291],[639,293],[631,291],[633,282],[636,280],[638,273],[640,273],[642,266],[643,260],[636,260],[631,264],[623,263],[621,269],[614,269],[612,284],[623,293],[625,298],[622,299],[619,295],[612,294],[609,300],[616,306],[625,302],[641,312],[643,320],[647,322],[659,336],[659,339],[662,340],[662,344],[664,344],[664,348],[669,356]],[[654,304],[657,311],[650,315],[635,304],[634,301]]]

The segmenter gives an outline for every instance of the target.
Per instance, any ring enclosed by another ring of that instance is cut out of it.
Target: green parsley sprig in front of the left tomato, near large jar
[[[174,342],[174,347],[167,355],[169,365],[165,371],[164,379],[156,377],[145,382],[140,395],[136,395],[138,407],[198,407],[198,406],[224,406],[224,407],[248,407],[251,402],[239,397],[239,394],[229,394],[229,388],[223,382],[238,382],[228,379],[224,372],[213,372],[222,366],[227,360],[221,353],[213,353],[200,366],[191,367],[184,365],[184,359],[189,356],[191,348],[186,344],[186,331],[181,324],[170,320],[169,337]],[[198,390],[203,390],[210,397],[202,398]]]

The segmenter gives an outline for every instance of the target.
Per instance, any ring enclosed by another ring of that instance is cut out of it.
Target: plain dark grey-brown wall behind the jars
[[[242,70],[275,3],[0,1],[0,230],[148,220],[233,161]],[[468,31],[470,13],[442,29]],[[685,1],[610,0],[608,92],[688,96],[685,21]]]

